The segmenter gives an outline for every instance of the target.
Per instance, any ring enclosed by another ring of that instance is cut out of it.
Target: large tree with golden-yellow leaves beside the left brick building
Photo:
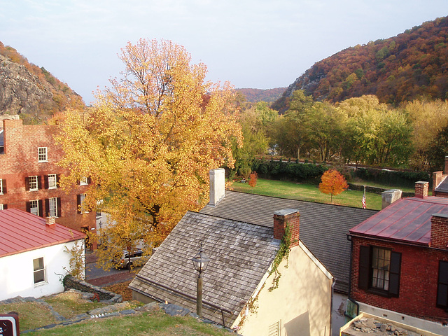
[[[143,239],[158,246],[187,210],[208,202],[209,170],[232,167],[231,141],[241,144],[235,96],[228,83],[205,80],[207,67],[171,41],[127,43],[123,78],[97,93],[87,112],[71,111],[58,141],[69,188],[92,184],[86,205],[111,215],[104,230],[104,267],[111,253]]]

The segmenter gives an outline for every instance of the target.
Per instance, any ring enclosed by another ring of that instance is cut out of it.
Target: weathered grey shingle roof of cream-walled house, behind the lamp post
[[[197,272],[191,258],[200,243],[211,260],[203,273],[204,317],[222,321],[221,311],[209,305],[213,304],[224,309],[225,325],[230,326],[279,249],[272,228],[188,211],[130,288],[196,311]]]

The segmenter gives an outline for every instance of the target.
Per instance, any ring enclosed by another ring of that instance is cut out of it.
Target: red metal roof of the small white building
[[[19,209],[0,211],[0,257],[83,239],[79,231],[55,224]]]

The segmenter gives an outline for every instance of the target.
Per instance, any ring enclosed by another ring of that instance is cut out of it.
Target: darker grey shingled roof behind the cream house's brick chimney
[[[300,211],[300,240],[335,276],[335,290],[348,293],[351,246],[346,234],[378,211],[226,190],[216,206],[200,212],[272,228],[274,211],[288,208]]]

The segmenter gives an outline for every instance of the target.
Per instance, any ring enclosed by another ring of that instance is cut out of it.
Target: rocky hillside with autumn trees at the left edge
[[[40,124],[83,99],[43,67],[0,42],[0,116],[19,114],[25,124]]]

